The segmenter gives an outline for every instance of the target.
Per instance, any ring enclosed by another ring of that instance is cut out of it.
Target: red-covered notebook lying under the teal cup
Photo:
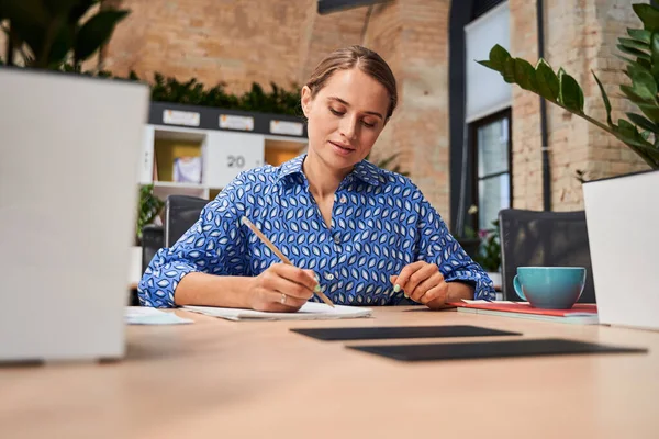
[[[498,315],[503,317],[532,318],[535,320],[571,323],[581,325],[596,325],[597,305],[589,303],[577,303],[570,309],[543,309],[535,308],[528,302],[488,302],[468,301],[453,302],[458,312]]]

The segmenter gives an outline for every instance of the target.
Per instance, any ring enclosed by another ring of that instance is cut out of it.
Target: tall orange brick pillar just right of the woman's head
[[[396,74],[401,108],[394,147],[414,182],[448,222],[449,0],[399,0]],[[395,30],[389,25],[388,29]],[[394,40],[395,38],[388,38]],[[383,40],[382,44],[387,44]]]

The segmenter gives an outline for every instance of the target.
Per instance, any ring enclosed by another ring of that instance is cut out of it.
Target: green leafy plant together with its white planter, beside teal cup
[[[506,82],[516,83],[610,133],[652,170],[590,180],[582,188],[600,322],[657,328],[659,295],[649,293],[657,291],[658,283],[649,273],[656,270],[654,252],[659,247],[656,232],[659,223],[659,8],[636,3],[633,9],[643,29],[628,29],[627,35],[618,38],[617,48],[622,54],[617,57],[624,61],[627,77],[625,83],[619,85],[619,91],[637,111],[627,112],[627,117],[619,117],[617,122],[612,117],[611,101],[595,72],[593,77],[604,101],[606,121],[585,114],[581,86],[565,69],[555,72],[545,59],[539,59],[534,67],[496,45],[490,52],[490,59],[479,63],[499,71]],[[582,178],[583,173],[578,177]],[[622,308],[616,297],[629,289],[644,294],[645,306],[634,305],[636,308],[617,312]]]

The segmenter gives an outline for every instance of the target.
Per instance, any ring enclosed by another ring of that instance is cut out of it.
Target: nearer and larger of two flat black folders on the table
[[[647,349],[597,345],[558,338],[424,345],[348,346],[348,348],[399,361],[647,352]]]

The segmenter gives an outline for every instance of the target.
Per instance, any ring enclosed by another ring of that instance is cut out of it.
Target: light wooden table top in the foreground
[[[0,438],[659,438],[656,331],[421,307],[295,323],[176,313],[196,324],[130,326],[124,361],[0,369]],[[381,325],[478,325],[650,351],[404,363],[289,331]]]

